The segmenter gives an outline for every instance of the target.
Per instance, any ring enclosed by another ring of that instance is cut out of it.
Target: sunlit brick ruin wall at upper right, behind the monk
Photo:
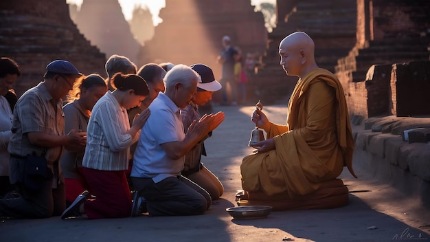
[[[352,115],[430,115],[429,19],[424,1],[357,1],[357,44],[335,67]]]

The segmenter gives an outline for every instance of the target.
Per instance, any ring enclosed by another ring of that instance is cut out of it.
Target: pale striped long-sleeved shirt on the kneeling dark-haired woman
[[[126,109],[108,91],[93,107],[87,127],[87,146],[82,166],[95,170],[127,170],[130,146],[137,141],[130,129]]]

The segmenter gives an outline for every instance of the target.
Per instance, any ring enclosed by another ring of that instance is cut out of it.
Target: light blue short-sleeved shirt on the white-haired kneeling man
[[[160,93],[148,107],[151,114],[142,129],[133,155],[131,177],[151,177],[157,183],[181,174],[185,156],[170,159],[161,144],[185,139],[181,111]]]

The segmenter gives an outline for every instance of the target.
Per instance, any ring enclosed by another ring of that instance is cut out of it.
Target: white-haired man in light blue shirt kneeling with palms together
[[[164,83],[166,91],[148,107],[151,115],[134,154],[131,180],[137,196],[132,216],[142,212],[150,216],[203,214],[211,203],[210,195],[181,176],[181,170],[185,154],[216,129],[225,115],[203,115],[185,134],[181,109],[190,103],[201,77],[190,67],[177,65],[166,74]]]

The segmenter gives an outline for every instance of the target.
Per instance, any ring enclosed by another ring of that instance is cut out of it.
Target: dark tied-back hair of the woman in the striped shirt
[[[118,72],[112,77],[112,85],[120,91],[128,91],[133,89],[136,95],[148,96],[149,89],[144,78],[136,74],[122,74]]]

